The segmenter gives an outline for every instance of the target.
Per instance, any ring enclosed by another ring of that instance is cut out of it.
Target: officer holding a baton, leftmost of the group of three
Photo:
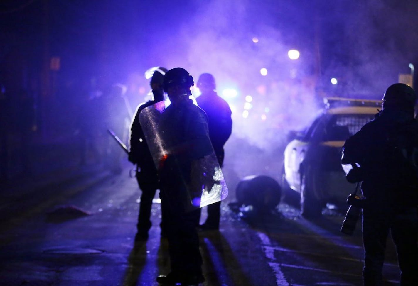
[[[128,160],[137,164],[136,179],[142,191],[139,206],[139,215],[137,223],[137,233],[135,241],[148,239],[148,230],[151,228],[151,206],[156,190],[160,188],[158,182],[157,169],[153,158],[145,142],[142,127],[139,121],[140,112],[148,106],[164,100],[163,77],[167,72],[166,68],[155,68],[151,77],[150,86],[153,93],[153,100],[140,104],[135,112],[130,126],[130,152]],[[164,236],[164,203],[161,203],[161,236]]]

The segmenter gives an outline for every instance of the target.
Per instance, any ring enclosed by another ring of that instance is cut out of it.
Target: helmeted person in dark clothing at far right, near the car
[[[347,139],[342,164],[359,166],[347,174],[362,182],[363,285],[383,285],[386,240],[398,254],[400,285],[418,285],[418,121],[415,91],[389,86],[375,119]]]

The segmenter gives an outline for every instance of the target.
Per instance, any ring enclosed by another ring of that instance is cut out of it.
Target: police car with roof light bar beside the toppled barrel
[[[341,147],[345,140],[372,120],[382,101],[325,98],[325,108],[284,151],[283,193],[300,193],[301,212],[318,217],[326,203],[345,204],[355,185],[345,179]]]

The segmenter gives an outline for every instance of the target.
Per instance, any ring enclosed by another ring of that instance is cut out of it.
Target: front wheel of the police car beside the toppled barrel
[[[308,173],[301,177],[301,213],[305,218],[318,218],[322,214],[323,203],[315,197],[313,180]]]

